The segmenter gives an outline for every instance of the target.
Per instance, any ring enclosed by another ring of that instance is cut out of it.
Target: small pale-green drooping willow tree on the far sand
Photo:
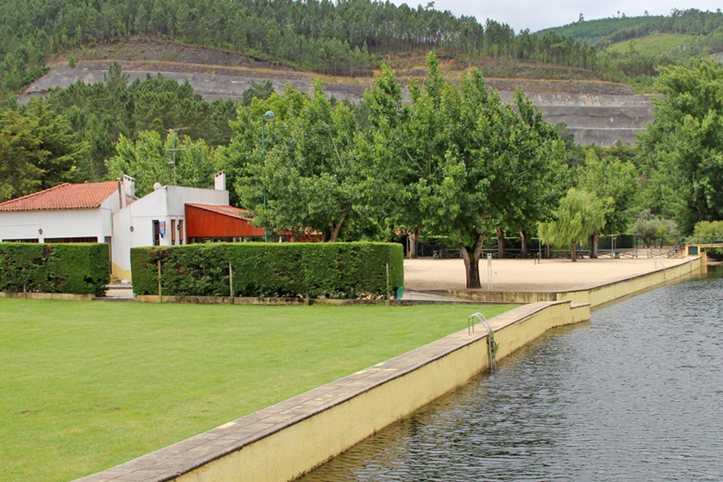
[[[538,234],[544,243],[570,245],[570,258],[577,261],[576,251],[579,241],[583,241],[605,225],[602,201],[594,194],[570,188],[568,194],[560,199],[560,207],[555,219],[539,223]]]

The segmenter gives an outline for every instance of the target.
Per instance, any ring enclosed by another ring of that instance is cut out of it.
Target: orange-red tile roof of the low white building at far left
[[[42,211],[64,209],[93,209],[108,199],[111,194],[118,195],[116,181],[93,182],[87,184],[59,184],[44,191],[0,202],[0,211]]]

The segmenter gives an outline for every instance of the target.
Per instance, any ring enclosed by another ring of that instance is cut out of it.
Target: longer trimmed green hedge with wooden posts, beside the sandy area
[[[360,298],[404,284],[401,244],[209,243],[131,249],[133,291],[171,296]]]

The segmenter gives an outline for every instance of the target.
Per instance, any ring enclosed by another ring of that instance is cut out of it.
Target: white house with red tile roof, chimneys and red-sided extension
[[[228,205],[223,172],[216,174],[215,189],[154,187],[138,199],[134,179],[124,176],[119,181],[60,184],[1,202],[0,242],[108,243],[111,273],[130,280],[131,248],[186,244],[188,231],[192,241],[264,235],[241,209]]]

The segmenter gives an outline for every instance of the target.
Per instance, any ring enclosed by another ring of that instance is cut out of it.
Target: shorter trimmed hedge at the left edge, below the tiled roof
[[[103,296],[110,264],[103,243],[0,243],[0,291]]]

